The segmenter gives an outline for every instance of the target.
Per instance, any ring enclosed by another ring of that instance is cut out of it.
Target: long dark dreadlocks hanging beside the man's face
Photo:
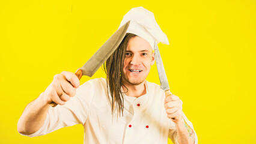
[[[126,88],[122,83],[124,57],[130,38],[135,36],[135,34],[127,33],[115,52],[106,60],[104,64],[107,89],[112,97],[112,100],[110,100],[108,93],[109,102],[111,103],[112,115],[115,109],[117,109],[117,116],[121,115],[121,113],[123,116],[124,97],[123,92],[121,92],[121,87],[123,86],[123,88]],[[127,90],[128,89],[126,88],[126,91]]]

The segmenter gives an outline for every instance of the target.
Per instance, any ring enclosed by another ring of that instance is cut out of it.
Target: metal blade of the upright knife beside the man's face
[[[158,76],[161,83],[161,88],[164,91],[166,91],[170,88],[169,88],[168,80],[166,77],[165,68],[163,67],[163,61],[162,61],[156,41],[154,42],[154,55],[156,58],[156,67],[157,67]]]

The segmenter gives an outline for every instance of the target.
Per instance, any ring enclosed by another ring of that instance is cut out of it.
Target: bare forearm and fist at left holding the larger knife
[[[81,72],[78,70],[77,72],[78,76],[81,77]],[[61,74],[56,74],[46,90],[25,107],[17,124],[19,133],[25,135],[35,133],[44,124],[52,101],[63,105],[70,100],[70,97],[75,96],[76,88],[80,85],[78,76],[69,71],[62,71]]]

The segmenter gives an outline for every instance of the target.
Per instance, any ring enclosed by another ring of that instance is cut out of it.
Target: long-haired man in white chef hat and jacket
[[[18,122],[19,133],[41,136],[82,124],[84,143],[167,143],[168,136],[174,143],[197,143],[180,98],[172,94],[165,98],[159,85],[145,80],[155,62],[152,43],[168,43],[163,33],[156,37],[144,33],[147,28],[154,34],[150,29],[157,25],[147,14],[151,12],[138,7],[124,16],[122,22],[133,23],[106,61],[106,79],[79,86],[74,73],[56,74],[46,90],[26,106]],[[159,29],[157,34],[162,32]],[[52,101],[59,105],[50,107]]]

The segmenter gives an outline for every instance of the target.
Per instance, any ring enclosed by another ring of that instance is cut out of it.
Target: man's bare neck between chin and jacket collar
[[[124,83],[124,86],[126,86],[126,88],[124,89],[124,92],[126,92],[125,94],[129,97],[141,97],[141,95],[144,95],[147,93],[147,89],[146,89],[146,80],[144,80],[144,82],[142,82],[139,85],[132,85],[130,83]]]

